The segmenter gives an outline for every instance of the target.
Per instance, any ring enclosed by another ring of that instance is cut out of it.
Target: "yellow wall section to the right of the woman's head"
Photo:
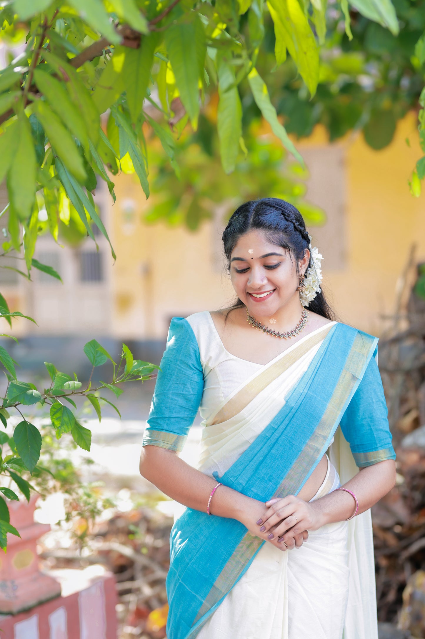
[[[382,151],[371,150],[361,135],[343,142],[347,267],[329,273],[326,286],[343,321],[375,334],[382,330],[382,314],[394,309],[396,282],[412,243],[417,245],[417,261],[425,259],[425,199],[423,194],[412,197],[407,185],[421,157],[416,127],[414,114],[409,114]]]

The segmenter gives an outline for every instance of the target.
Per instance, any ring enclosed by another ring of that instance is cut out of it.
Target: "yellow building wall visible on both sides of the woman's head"
[[[343,321],[379,334],[381,315],[393,310],[396,282],[413,242],[417,259],[425,259],[425,199],[410,196],[407,185],[421,155],[415,116],[400,121],[393,142],[382,151],[371,150],[361,134],[350,134],[338,144],[345,153],[346,259],[343,268],[327,272],[324,255],[324,288]],[[320,127],[298,141],[301,152],[325,146]],[[226,275],[213,269],[217,225],[205,223],[198,233],[147,226],[141,222],[145,197],[134,176],[122,174],[116,193],[110,216],[118,256],[112,275],[114,334],[163,337],[171,316],[216,309],[231,300]],[[126,198],[137,201],[127,226],[122,212]]]

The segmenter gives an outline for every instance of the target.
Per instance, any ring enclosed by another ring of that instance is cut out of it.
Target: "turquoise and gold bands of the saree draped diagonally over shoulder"
[[[217,481],[263,502],[303,487],[328,450],[378,341],[339,323],[320,339],[306,371],[281,398],[282,408],[221,477],[213,473]],[[218,407],[207,428],[237,419],[262,394],[266,408],[273,380],[315,343],[317,335],[307,337],[261,369]],[[168,638],[194,639],[263,544],[236,520],[186,509],[171,531]]]

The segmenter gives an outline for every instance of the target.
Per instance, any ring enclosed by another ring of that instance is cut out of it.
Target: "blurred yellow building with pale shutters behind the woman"
[[[417,260],[425,258],[425,197],[410,196],[407,184],[421,157],[415,115],[398,123],[393,142],[382,151],[371,150],[357,134],[329,144],[320,127],[297,144],[310,170],[308,199],[328,215],[325,226],[310,229],[324,256],[324,290],[342,321],[380,334],[385,316],[394,311],[412,245]],[[69,344],[124,339],[146,348],[156,344],[159,353],[172,316],[231,301],[221,216],[203,222],[197,232],[148,226],[141,219],[146,204],[136,178],[120,174],[114,181],[117,203],[112,205],[102,185],[96,200],[117,253],[115,264],[98,233],[99,252],[90,239],[76,249],[50,236],[38,240],[36,258],[54,266],[63,284],[35,270],[34,282],[1,270],[1,290],[11,307],[38,322],[37,327],[20,319],[16,335],[60,339],[62,347],[64,337]]]

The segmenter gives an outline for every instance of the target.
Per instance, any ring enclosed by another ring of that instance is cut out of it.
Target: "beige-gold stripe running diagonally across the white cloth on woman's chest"
[[[312,335],[310,339],[306,339],[305,342],[296,346],[294,350],[291,350],[286,355],[284,351],[284,353],[282,353],[282,357],[275,362],[275,364],[272,364],[266,368],[265,371],[259,373],[254,380],[249,381],[243,389],[231,397],[231,399],[222,406],[217,415],[213,417],[212,422],[210,422],[208,426],[221,424],[222,422],[226,422],[228,419],[231,419],[231,417],[238,415],[238,413],[246,408],[262,390],[266,389],[268,385],[271,384],[272,381],[275,381],[280,375],[282,375],[282,373],[285,373],[285,371],[295,364],[300,357],[306,355],[313,346],[316,346],[319,342],[323,341],[334,326],[335,324],[332,324],[315,335]]]

